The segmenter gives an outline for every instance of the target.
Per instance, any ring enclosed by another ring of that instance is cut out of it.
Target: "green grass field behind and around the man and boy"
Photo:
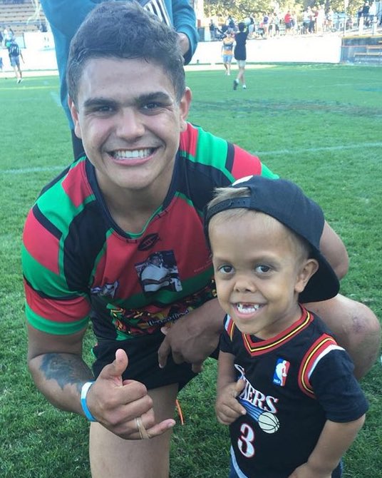
[[[190,121],[257,153],[325,210],[349,250],[344,295],[382,317],[382,74],[363,66],[268,65],[232,91],[223,71],[187,72]],[[0,79],[0,477],[86,478],[88,424],[54,409],[26,369],[20,268],[26,213],[42,186],[71,161],[58,78]],[[87,345],[92,343],[88,334]],[[183,390],[172,478],[227,477],[227,429],[214,412],[216,364]],[[346,478],[382,478],[382,367],[362,381],[366,424],[345,457]],[[275,451],[277,458],[277,451]],[[155,477],[155,471],[153,471]],[[107,478],[107,477],[105,477]]]

